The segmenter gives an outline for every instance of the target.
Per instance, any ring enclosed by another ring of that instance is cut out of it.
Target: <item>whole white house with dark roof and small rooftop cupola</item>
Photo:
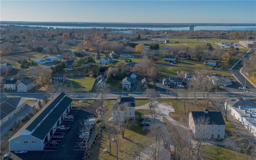
[[[192,111],[188,114],[189,129],[193,132],[195,138],[206,139],[224,139],[225,122],[221,112]]]

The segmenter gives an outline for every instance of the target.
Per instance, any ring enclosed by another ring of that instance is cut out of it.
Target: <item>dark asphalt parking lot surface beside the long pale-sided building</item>
[[[90,113],[72,108],[68,115],[73,119],[64,119],[60,125],[69,126],[69,130],[56,130],[49,142],[56,141],[56,146],[46,144],[44,151],[28,151],[27,153],[16,154],[23,160],[44,159],[44,160],[81,160],[85,148],[81,148],[79,139],[80,122],[84,122]],[[48,142],[48,143],[49,143]]]

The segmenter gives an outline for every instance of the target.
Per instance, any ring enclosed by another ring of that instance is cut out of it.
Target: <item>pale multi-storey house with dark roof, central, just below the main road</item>
[[[126,118],[135,117],[135,100],[134,97],[119,96],[113,104],[112,120],[125,120]]]

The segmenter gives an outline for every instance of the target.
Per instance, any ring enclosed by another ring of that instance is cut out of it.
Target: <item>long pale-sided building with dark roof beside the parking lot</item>
[[[10,151],[42,151],[73,107],[73,100],[60,93],[50,100],[9,140]]]

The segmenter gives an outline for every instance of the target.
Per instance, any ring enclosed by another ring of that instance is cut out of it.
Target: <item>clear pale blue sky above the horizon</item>
[[[0,0],[0,20],[256,23],[255,0]]]

